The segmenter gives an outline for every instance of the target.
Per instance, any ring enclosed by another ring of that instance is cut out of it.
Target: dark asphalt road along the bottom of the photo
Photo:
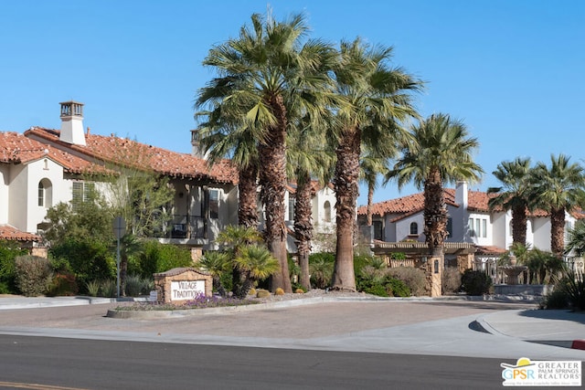
[[[0,389],[499,389],[500,363],[0,335]]]

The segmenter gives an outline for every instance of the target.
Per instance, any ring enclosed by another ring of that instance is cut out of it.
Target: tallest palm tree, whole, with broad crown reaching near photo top
[[[318,119],[324,111],[327,104],[320,98],[331,83],[326,63],[334,56],[319,40],[303,42],[308,26],[302,15],[276,22],[254,14],[251,25],[242,26],[238,38],[212,47],[203,63],[218,70],[219,78],[209,84],[223,97],[218,104],[237,108],[241,127],[253,132],[258,142],[264,233],[281,264],[271,289],[290,292],[284,226],[286,134],[293,118],[310,112]]]

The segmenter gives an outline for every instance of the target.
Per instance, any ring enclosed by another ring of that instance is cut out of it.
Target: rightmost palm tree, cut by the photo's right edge
[[[564,154],[551,155],[550,166],[537,163],[530,178],[537,206],[550,213],[550,249],[558,258],[565,249],[565,213],[585,200],[583,167],[569,160]]]

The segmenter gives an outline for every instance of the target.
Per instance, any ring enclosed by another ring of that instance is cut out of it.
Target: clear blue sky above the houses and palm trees
[[[303,12],[312,37],[394,47],[427,82],[423,116],[449,113],[481,144],[484,191],[498,163],[584,163],[585,2],[581,0],[0,0],[0,131],[60,127],[58,102],[85,103],[92,133],[189,153],[207,51],[271,7]],[[375,201],[417,190],[378,188]],[[359,205],[366,203],[362,188]]]

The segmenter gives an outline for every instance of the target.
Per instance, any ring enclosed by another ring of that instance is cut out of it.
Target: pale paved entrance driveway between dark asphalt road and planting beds
[[[283,300],[166,318],[106,318],[127,302],[0,298],[0,333],[263,348],[585,360],[585,313],[472,300]],[[53,309],[48,309],[53,308]]]

